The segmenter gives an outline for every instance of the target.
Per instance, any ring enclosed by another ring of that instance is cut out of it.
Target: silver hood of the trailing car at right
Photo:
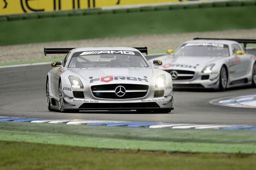
[[[187,69],[198,69],[198,67],[205,66],[210,63],[214,63],[223,57],[170,57],[162,59],[163,64],[159,66],[159,69],[178,69],[180,67]]]

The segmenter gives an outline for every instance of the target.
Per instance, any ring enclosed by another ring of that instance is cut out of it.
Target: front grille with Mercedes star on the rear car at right
[[[194,77],[194,72],[185,70],[166,70],[171,74],[172,80],[189,80]]]

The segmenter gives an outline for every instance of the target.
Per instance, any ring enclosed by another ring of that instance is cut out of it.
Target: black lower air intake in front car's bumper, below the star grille
[[[136,109],[136,108],[160,108],[155,102],[145,103],[84,103],[79,109]]]

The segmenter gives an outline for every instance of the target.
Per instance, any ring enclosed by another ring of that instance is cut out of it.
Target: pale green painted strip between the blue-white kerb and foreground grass
[[[80,147],[256,153],[253,130],[150,129],[0,122],[0,140]]]

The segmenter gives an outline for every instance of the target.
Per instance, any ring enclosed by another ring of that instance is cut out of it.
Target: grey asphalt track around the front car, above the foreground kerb
[[[82,113],[49,112],[46,106],[46,75],[52,67],[33,65],[0,69],[0,116],[82,120],[117,120],[195,124],[256,125],[256,109],[209,104],[216,98],[255,94],[246,87],[225,92],[174,91],[171,114],[139,114],[114,111]]]

